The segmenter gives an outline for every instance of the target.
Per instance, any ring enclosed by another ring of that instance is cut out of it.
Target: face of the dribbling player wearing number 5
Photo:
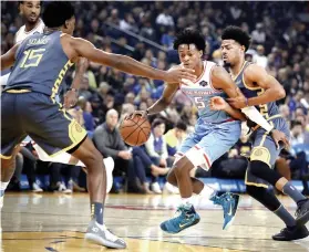
[[[202,61],[203,51],[198,51],[195,44],[181,44],[178,55],[179,61],[186,69],[195,69]]]

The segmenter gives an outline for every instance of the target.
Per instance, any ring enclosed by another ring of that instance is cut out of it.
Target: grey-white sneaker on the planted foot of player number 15
[[[109,229],[106,229],[105,224],[99,224],[94,219],[89,223],[85,240],[110,249],[126,248],[124,240],[117,238]]]

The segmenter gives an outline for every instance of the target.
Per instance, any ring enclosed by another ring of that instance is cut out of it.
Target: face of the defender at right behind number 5
[[[237,43],[235,40],[223,40],[222,57],[225,65],[234,65],[244,57],[245,46]]]

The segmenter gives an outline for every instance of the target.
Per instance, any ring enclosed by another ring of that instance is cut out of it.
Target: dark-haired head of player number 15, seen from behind
[[[71,35],[74,32],[75,17],[71,2],[50,2],[43,11],[42,19],[48,28],[60,28],[62,32]]]

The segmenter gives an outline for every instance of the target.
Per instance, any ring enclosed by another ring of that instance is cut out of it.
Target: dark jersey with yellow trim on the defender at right
[[[264,92],[265,92],[265,90],[261,87],[258,87],[258,86],[250,87],[246,84],[246,82],[244,80],[244,72],[250,64],[251,64],[250,62],[245,61],[240,73],[234,78],[234,82],[239,87],[239,90],[243,92],[243,94],[245,95],[246,98],[259,96],[259,95],[264,94]],[[260,104],[260,105],[256,106],[256,108],[259,111],[259,113],[266,119],[280,114],[276,102]]]

